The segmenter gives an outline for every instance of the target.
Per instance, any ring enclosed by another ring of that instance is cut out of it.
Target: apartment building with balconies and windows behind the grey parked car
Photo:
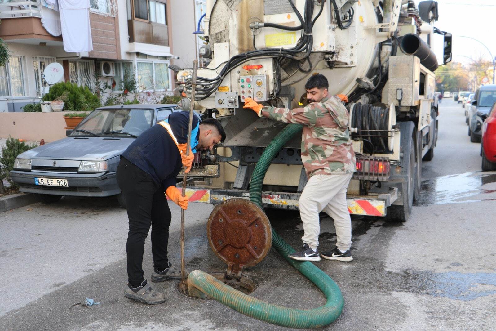
[[[142,93],[172,94],[169,65],[190,66],[197,56],[193,32],[205,0],[90,0],[93,50],[81,53],[65,52],[63,36],[48,31],[45,1],[0,2],[0,38],[10,51],[0,67],[0,112],[39,101],[47,92],[43,69],[53,62],[62,64],[63,80],[90,88],[98,79],[119,93],[128,73]]]

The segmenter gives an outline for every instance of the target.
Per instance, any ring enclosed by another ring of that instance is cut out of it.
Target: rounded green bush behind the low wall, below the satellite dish
[[[64,109],[68,111],[93,111],[101,106],[100,99],[87,86],[79,86],[71,82],[60,82],[50,87],[43,96],[43,101],[53,101],[65,96]]]

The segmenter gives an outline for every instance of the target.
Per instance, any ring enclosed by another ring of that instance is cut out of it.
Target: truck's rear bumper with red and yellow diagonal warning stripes
[[[181,188],[179,188],[181,190]],[[262,192],[262,202],[268,208],[298,210],[300,193]],[[231,198],[249,200],[249,192],[244,190],[186,188],[190,202],[218,204]],[[354,215],[385,216],[386,208],[398,197],[398,189],[390,188],[386,194],[369,196],[348,196],[348,211]]]

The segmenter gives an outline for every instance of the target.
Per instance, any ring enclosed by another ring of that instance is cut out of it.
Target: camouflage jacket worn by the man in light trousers
[[[355,172],[355,153],[348,131],[350,115],[338,97],[324,98],[303,108],[264,107],[260,115],[303,125],[302,162],[309,178]]]

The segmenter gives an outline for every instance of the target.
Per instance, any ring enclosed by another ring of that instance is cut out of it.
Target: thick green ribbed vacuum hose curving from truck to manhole
[[[262,183],[270,163],[282,147],[302,126],[286,126],[264,149],[258,160],[250,182],[250,200],[263,209]],[[338,285],[325,272],[310,262],[299,262],[288,258],[295,250],[288,245],[272,227],[272,247],[298,271],[303,273],[325,295],[327,301],[315,309],[292,309],[258,300],[224,284],[212,275],[194,270],[189,273],[188,290],[201,296],[202,293],[247,316],[278,326],[290,328],[318,328],[334,322],[343,310],[344,300]],[[200,293],[202,292],[202,293]]]

